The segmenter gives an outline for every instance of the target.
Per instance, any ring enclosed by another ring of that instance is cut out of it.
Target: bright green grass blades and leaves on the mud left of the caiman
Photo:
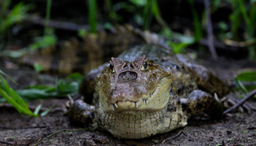
[[[13,105],[13,107],[16,108],[20,114],[34,117],[46,115],[53,107],[47,108],[45,111],[39,114],[43,103],[41,102],[41,104],[35,108],[35,111],[32,112],[28,108],[28,104],[25,100],[39,100],[49,97],[65,97],[68,94],[73,95],[74,93],[78,92],[80,82],[83,79],[82,75],[74,73],[56,82],[55,86],[36,85],[29,86],[27,89],[19,89],[14,91],[9,87],[9,84],[6,82],[6,79],[3,78],[3,75],[13,81],[12,78],[0,70],[0,96],[2,96],[0,97],[0,102],[7,102]]]

